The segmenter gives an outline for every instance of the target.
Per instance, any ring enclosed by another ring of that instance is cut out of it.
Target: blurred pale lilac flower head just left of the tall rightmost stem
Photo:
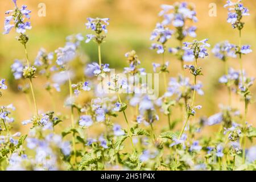
[[[230,44],[227,40],[225,42],[217,43],[212,49],[214,56],[220,60],[225,61],[227,57],[236,57],[236,46]]]

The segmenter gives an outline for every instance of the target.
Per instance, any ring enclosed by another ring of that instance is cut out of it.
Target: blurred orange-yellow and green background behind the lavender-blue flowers
[[[86,30],[85,22],[88,17],[110,18],[110,26],[108,27],[108,34],[106,43],[102,44],[102,61],[109,63],[111,68],[123,69],[127,65],[124,54],[134,49],[139,59],[142,62],[142,67],[146,68],[147,72],[152,72],[151,63],[161,63],[161,56],[156,54],[156,51],[149,49],[151,42],[149,40],[151,31],[155,24],[161,20],[158,16],[160,5],[172,5],[177,1],[170,0],[18,0],[18,5],[26,4],[31,13],[32,30],[27,31],[30,41],[28,42],[28,55],[31,63],[40,48],[45,48],[48,52],[54,51],[58,47],[65,44],[65,37],[71,34],[82,33],[88,34],[90,31]],[[189,0],[187,2],[194,3],[197,11],[197,18],[199,22],[195,23],[197,26],[197,39],[209,39],[209,43],[213,47],[214,44],[222,40],[229,40],[230,43],[238,44],[238,31],[233,30],[232,26],[226,22],[227,9],[224,0]],[[39,17],[39,3],[45,3],[46,16]],[[210,17],[208,12],[210,10],[209,3],[216,3],[217,16]],[[253,52],[249,55],[243,56],[243,67],[249,76],[255,77],[255,58],[256,58],[256,1],[243,1],[245,7],[250,10],[250,16],[245,16],[243,21],[245,27],[242,30],[242,44],[250,44]],[[11,0],[0,1],[0,26],[3,30],[3,22],[5,11],[13,9],[14,4]],[[22,130],[24,133],[28,131],[28,126],[20,126],[20,122],[28,119],[32,115],[27,104],[26,96],[20,93],[17,89],[18,82],[14,80],[11,73],[10,65],[15,59],[24,60],[24,50],[22,45],[15,40],[16,33],[11,31],[9,35],[0,34],[0,78],[6,78],[9,89],[3,93],[0,100],[0,105],[7,105],[13,103],[16,107],[14,111],[15,129]],[[192,38],[187,38],[186,41],[191,41]],[[168,46],[177,46],[177,42],[171,39]],[[84,53],[84,60],[97,61],[97,46],[94,43],[82,43],[82,52]],[[211,47],[211,48],[212,48]],[[209,51],[210,52],[210,51]],[[166,60],[170,61],[169,77],[175,77],[180,72],[180,63],[176,58],[167,54]],[[196,103],[203,106],[203,109],[197,112],[196,117],[209,117],[214,113],[220,111],[219,105],[228,103],[228,92],[226,88],[218,83],[218,78],[224,75],[224,64],[217,60],[212,53],[208,59],[200,60],[199,64],[203,67],[204,76],[200,76],[204,84],[203,89],[205,96],[197,96]],[[229,65],[233,68],[239,68],[238,59],[229,59]],[[77,72],[82,72],[79,64],[75,65]],[[187,73],[189,76],[189,73]],[[43,78],[36,78],[34,80],[36,98],[38,100],[38,107],[41,111],[51,110],[52,105],[49,99],[49,94],[44,91],[45,80]],[[67,87],[67,86],[66,86]],[[56,107],[59,111],[68,113],[69,110],[63,106],[64,98],[68,95],[68,89],[62,88],[64,92],[61,94],[55,93]],[[256,96],[256,86],[251,87],[253,93],[253,100]],[[243,112],[243,102],[239,97],[233,97],[233,106],[236,106]],[[247,121],[256,126],[255,119],[255,102],[250,104]],[[175,113],[175,112],[174,112]],[[129,114],[129,119],[132,115]],[[176,116],[174,115],[174,118]],[[160,122],[167,125],[167,117],[160,117]],[[125,126],[123,116],[117,118],[117,122]],[[66,123],[69,123],[68,121]],[[156,129],[163,126],[156,123]],[[178,129],[180,127],[177,127]],[[216,127],[207,127],[204,133],[210,131],[217,131]]]

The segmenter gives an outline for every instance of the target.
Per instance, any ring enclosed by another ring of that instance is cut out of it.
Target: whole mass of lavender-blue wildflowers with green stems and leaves
[[[152,90],[152,85],[140,80],[147,72],[141,67],[143,59],[136,51],[124,54],[127,66],[114,75],[111,65],[102,61],[101,46],[108,32],[108,18],[88,18],[85,25],[93,34],[70,35],[64,46],[55,51],[41,48],[32,63],[28,59],[25,34],[31,29],[27,22],[31,11],[13,2],[14,10],[6,12],[10,16],[5,18],[4,34],[15,28],[24,46],[26,61],[15,59],[10,70],[15,84],[26,94],[35,112],[20,121],[30,127],[28,133],[22,135],[13,133],[14,105],[0,106],[1,169],[255,170],[256,148],[246,148],[249,146],[246,142],[256,137],[256,129],[246,119],[253,98],[249,89],[254,78],[247,76],[242,65],[242,56],[252,50],[249,45],[241,44],[244,26],[241,19],[248,15],[241,1],[228,1],[225,5],[231,6],[228,22],[240,31],[239,45],[225,40],[212,49],[213,55],[225,64],[225,73],[218,81],[228,88],[229,102],[220,105],[220,111],[209,117],[200,117],[203,106],[197,96],[204,95],[203,83],[198,80],[203,77],[203,66],[199,64],[201,59],[206,61],[210,56],[210,44],[208,39],[185,41],[187,35],[196,37],[197,28],[190,25],[197,22],[194,6],[185,2],[161,6],[162,20],[152,31],[150,40],[155,43],[150,49],[156,49],[162,56],[162,64],[156,61],[152,69],[155,75],[163,76],[160,83],[155,78],[154,87],[163,85],[164,89],[152,100],[151,94],[144,92]],[[180,44],[168,47],[172,39]],[[90,40],[98,46],[97,63],[88,63],[80,56],[81,47]],[[170,56],[167,50],[181,62],[181,74],[177,76],[169,69],[173,67],[172,61],[166,61]],[[229,67],[229,59],[237,57],[241,63],[238,71]],[[189,64],[184,64],[187,62]],[[86,65],[81,66],[81,63]],[[79,66],[75,67],[76,64]],[[47,111],[41,109],[42,106],[38,110],[36,98],[40,95],[32,84],[38,77],[44,78],[40,86],[44,80],[44,88],[51,98],[46,101],[51,106]],[[4,96],[6,90],[6,80],[1,78],[0,96]],[[57,94],[59,92],[61,94]],[[57,96],[65,96],[64,109],[56,105]],[[234,96],[241,96],[244,112],[232,104]],[[220,129],[212,137],[201,133],[214,126]]]

